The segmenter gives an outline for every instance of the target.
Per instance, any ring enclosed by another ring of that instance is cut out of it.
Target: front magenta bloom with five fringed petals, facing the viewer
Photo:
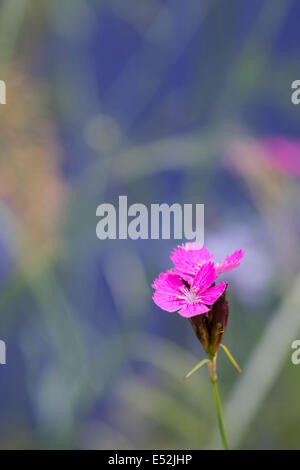
[[[163,310],[178,311],[186,318],[207,313],[226,289],[225,282],[212,287],[216,279],[217,273],[210,261],[197,269],[190,284],[176,271],[161,273],[152,286],[155,289],[153,301]]]

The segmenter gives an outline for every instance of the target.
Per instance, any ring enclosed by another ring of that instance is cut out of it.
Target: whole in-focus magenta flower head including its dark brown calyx
[[[171,254],[174,268],[154,281],[153,301],[163,310],[190,318],[205,351],[214,357],[228,319],[226,282],[215,284],[219,274],[240,265],[242,250],[214,263],[213,255],[198,243],[178,246]]]

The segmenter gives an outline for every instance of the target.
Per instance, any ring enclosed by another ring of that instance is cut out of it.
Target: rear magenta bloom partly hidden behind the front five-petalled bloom
[[[226,271],[237,268],[243,256],[243,250],[237,250],[232,255],[226,256],[220,263],[215,263],[214,269],[216,275],[218,276]],[[213,262],[214,259],[206,247],[202,247],[196,242],[178,246],[170,258],[174,263],[175,270],[187,282],[192,282],[202,266]]]

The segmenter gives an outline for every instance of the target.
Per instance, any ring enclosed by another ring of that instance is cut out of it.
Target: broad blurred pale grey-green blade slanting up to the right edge
[[[238,448],[283,368],[292,340],[300,331],[300,276],[268,320],[255,350],[249,358],[245,373],[230,392],[225,409],[225,421],[230,422],[231,448]],[[216,448],[218,429],[215,429],[210,448]]]

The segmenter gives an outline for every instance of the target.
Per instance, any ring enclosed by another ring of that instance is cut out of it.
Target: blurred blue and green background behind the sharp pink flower
[[[0,446],[220,448],[204,352],[151,284],[174,240],[96,238],[103,202],[205,204],[227,276],[231,448],[300,448],[300,4],[1,0]],[[222,279],[223,280],[223,279]]]

